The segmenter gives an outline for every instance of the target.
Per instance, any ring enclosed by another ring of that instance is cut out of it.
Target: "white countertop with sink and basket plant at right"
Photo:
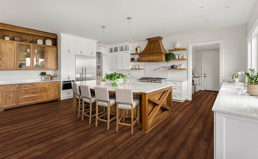
[[[243,84],[223,82],[212,111],[258,119],[258,97],[247,94]]]

